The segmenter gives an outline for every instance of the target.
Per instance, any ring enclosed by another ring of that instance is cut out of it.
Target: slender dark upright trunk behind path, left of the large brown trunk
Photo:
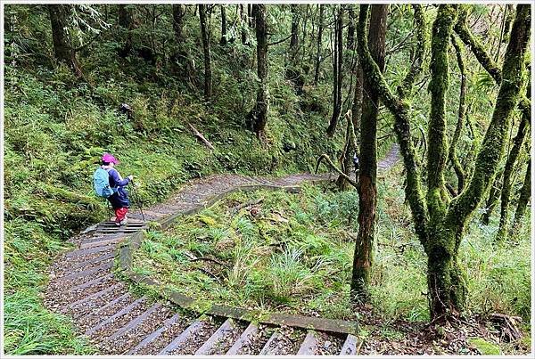
[[[338,119],[342,113],[342,5],[337,5],[337,11],[334,16],[334,56],[333,56],[333,116],[327,128],[327,136],[333,137]]]

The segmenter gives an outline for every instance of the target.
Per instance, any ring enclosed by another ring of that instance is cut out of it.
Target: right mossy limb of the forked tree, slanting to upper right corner
[[[477,154],[472,179],[465,192],[461,193],[449,206],[448,223],[457,224],[460,229],[479,205],[504,155],[506,134],[511,126],[511,114],[518,103],[525,79],[524,56],[531,35],[530,12],[531,6],[527,4],[519,4],[516,8],[511,41],[507,45],[502,69],[504,81],[499,87],[492,119]]]

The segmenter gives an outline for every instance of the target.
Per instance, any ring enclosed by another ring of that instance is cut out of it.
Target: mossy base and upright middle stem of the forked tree
[[[449,202],[444,182],[448,159],[446,137],[446,93],[449,87],[449,41],[457,19],[457,8],[440,5],[432,26],[431,114],[428,125],[427,208],[429,211],[427,286],[433,317],[457,314],[465,305],[466,284],[457,265],[461,233],[444,220]]]

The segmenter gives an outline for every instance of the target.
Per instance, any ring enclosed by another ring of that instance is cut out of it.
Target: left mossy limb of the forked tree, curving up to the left
[[[391,93],[390,87],[381,74],[379,66],[372,58],[367,44],[367,18],[369,5],[361,4],[358,14],[358,57],[369,84],[374,88],[385,106],[395,118],[394,131],[399,143],[399,149],[403,157],[403,163],[407,171],[407,186],[405,193],[413,215],[416,233],[420,241],[427,241],[426,226],[428,222],[427,208],[425,206],[422,190],[422,179],[416,164],[416,151],[412,142],[409,125],[409,105]]]

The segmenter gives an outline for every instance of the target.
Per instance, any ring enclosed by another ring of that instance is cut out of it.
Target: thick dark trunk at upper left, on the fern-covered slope
[[[52,25],[53,53],[57,61],[65,63],[77,76],[81,76],[82,70],[66,30],[69,28],[67,21],[69,20],[71,6],[70,4],[47,5]]]

